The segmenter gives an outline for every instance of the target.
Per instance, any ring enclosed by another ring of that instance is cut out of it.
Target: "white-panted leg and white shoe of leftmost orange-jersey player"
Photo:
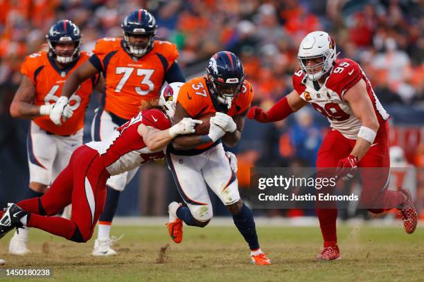
[[[53,162],[57,155],[57,147],[53,135],[31,122],[26,140],[28,153],[28,167],[30,171],[30,184],[24,194],[23,200],[43,196],[50,185],[52,178]],[[10,239],[9,254],[28,254],[28,227],[19,230]]]

